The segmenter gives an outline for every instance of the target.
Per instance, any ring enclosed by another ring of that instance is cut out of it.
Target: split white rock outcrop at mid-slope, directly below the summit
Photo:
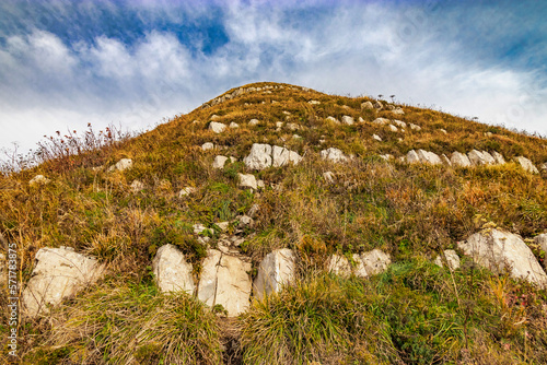
[[[243,162],[249,169],[264,169],[270,166],[281,167],[289,163],[299,164],[302,157],[294,151],[269,144],[254,143],[251,153]]]

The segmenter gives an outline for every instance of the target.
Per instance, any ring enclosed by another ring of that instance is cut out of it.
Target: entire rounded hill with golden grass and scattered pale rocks
[[[278,83],[112,133],[0,178],[18,362],[547,363],[544,139]]]

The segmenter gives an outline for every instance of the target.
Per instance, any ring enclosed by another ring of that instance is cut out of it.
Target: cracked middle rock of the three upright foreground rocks
[[[210,307],[222,305],[229,317],[235,317],[249,306],[251,263],[219,250],[208,250],[198,284],[198,299]]]

